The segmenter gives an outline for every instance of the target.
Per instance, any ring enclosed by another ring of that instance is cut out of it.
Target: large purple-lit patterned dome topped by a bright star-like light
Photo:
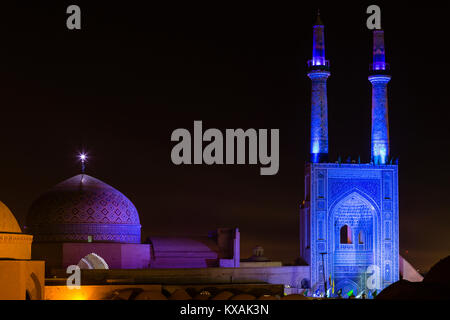
[[[86,174],[69,178],[39,197],[28,212],[27,227],[35,242],[141,242],[133,203]]]

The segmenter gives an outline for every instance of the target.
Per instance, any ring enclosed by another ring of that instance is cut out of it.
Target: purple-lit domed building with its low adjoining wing
[[[87,174],[60,182],[32,204],[27,231],[33,258],[46,273],[82,269],[239,267],[237,228],[207,236],[149,237],[141,243],[134,204],[120,191]]]

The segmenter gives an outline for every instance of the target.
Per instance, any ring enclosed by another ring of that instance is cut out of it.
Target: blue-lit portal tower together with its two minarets
[[[379,291],[399,278],[398,166],[389,154],[384,32],[373,32],[371,162],[345,164],[328,159],[326,82],[331,73],[320,18],[313,34],[311,157],[305,168],[300,255],[311,266],[314,290]]]

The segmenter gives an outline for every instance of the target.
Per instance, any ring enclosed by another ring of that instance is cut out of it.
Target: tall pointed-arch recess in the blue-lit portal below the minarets
[[[328,276],[334,280],[335,292],[353,290],[355,296],[366,290],[367,268],[379,265],[379,213],[374,201],[354,190],[331,209],[328,220]]]

